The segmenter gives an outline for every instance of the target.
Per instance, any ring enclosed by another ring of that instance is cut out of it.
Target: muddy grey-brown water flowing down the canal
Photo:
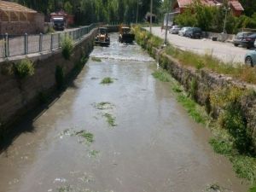
[[[20,125],[33,131],[0,154],[0,191],[200,192],[212,183],[246,191],[212,152],[208,131],[152,77],[155,62],[117,36],[91,54],[102,61],[90,59],[59,99]],[[101,84],[105,77],[113,84]]]

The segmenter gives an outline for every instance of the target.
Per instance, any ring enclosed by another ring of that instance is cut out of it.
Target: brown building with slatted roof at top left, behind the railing
[[[44,15],[18,3],[0,1],[0,33],[23,35],[44,32]]]

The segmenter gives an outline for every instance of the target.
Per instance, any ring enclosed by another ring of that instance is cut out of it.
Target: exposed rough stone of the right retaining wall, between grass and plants
[[[256,89],[253,84],[243,84],[230,77],[211,73],[204,69],[196,70],[193,67],[184,67],[172,56],[161,53],[160,49],[153,48],[152,52],[155,58],[162,59],[165,57],[167,59],[167,64],[164,66],[160,63],[161,67],[165,68],[172,74],[174,79],[177,79],[179,83],[183,84],[183,87],[188,92],[191,89],[192,79],[196,80],[195,100],[202,106],[207,105],[207,101],[209,101],[209,92],[212,90],[226,90],[234,86],[245,91],[254,90],[254,95],[242,96],[239,102],[241,104],[241,111],[247,122],[248,134],[253,139],[253,148],[256,152]],[[213,106],[211,106],[211,108],[213,110],[212,117],[218,119],[222,109],[218,108],[217,110],[216,108],[214,109]]]

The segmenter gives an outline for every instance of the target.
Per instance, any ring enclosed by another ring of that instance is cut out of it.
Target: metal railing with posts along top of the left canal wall
[[[0,58],[7,58],[17,55],[28,55],[50,51],[61,48],[61,38],[69,36],[74,42],[78,42],[84,35],[88,34],[96,24],[82,26],[79,29],[67,32],[55,32],[51,34],[38,34],[23,36],[9,36],[5,34],[0,40]]]

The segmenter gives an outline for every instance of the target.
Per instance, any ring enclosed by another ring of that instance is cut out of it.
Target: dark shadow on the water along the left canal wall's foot
[[[74,80],[78,77],[81,70],[84,68],[84,64],[81,66],[74,67],[72,72],[67,76],[65,84],[61,89],[56,89],[50,91],[50,96],[47,97],[47,100],[44,103],[38,104],[37,107],[32,108],[26,114],[21,115],[19,118],[7,125],[3,131],[0,131],[0,154],[6,153],[8,156],[8,148],[11,146],[15,139],[20,137],[21,134],[30,132],[32,133],[35,130],[33,122],[36,121],[47,109],[49,109],[68,88],[73,90],[79,89],[79,87],[74,84]]]

